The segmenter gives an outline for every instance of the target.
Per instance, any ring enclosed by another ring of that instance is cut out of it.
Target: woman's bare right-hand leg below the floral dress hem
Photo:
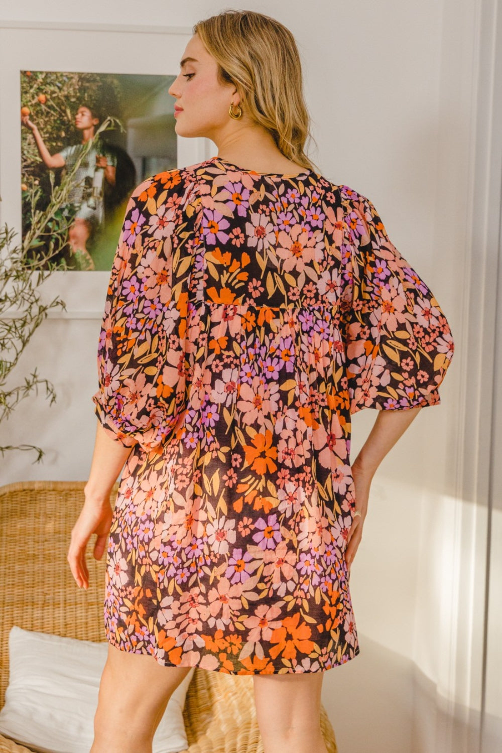
[[[322,672],[254,675],[265,753],[327,753],[321,734]]]

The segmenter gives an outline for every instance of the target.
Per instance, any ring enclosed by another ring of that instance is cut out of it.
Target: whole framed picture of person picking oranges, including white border
[[[44,209],[53,185],[79,160],[62,208],[70,224],[63,252],[70,271],[44,283],[48,295],[65,300],[59,316],[102,316],[133,187],[215,154],[211,142],[175,133],[169,87],[190,37],[190,29],[179,28],[0,27],[2,225],[23,236],[31,227],[33,187],[37,209]]]

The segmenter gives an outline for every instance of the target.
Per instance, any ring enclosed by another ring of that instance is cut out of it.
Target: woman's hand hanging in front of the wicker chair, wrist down
[[[95,559],[101,559],[110,532],[112,517],[113,510],[109,501],[95,501],[93,498],[86,497],[81,514],[71,530],[67,556],[71,575],[79,588],[89,587],[89,570],[85,559],[87,542],[93,534],[96,534],[93,556]]]

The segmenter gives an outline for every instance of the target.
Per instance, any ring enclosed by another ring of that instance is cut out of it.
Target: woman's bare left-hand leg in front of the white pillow
[[[90,753],[151,753],[167,702],[188,672],[109,644]]]

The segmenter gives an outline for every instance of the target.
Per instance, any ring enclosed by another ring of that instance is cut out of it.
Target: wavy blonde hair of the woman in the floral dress
[[[239,90],[242,110],[272,133],[284,157],[312,169],[302,66],[289,29],[253,11],[224,11],[196,23],[193,33],[218,63],[221,81]]]

